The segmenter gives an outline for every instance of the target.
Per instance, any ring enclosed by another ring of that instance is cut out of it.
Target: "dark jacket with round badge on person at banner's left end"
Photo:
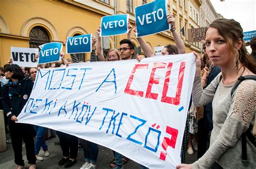
[[[2,102],[4,112],[9,115],[9,119],[15,115],[16,117],[21,113],[24,105],[29,99],[33,88],[33,82],[30,79],[19,80],[17,85],[13,85],[11,80],[3,86]]]

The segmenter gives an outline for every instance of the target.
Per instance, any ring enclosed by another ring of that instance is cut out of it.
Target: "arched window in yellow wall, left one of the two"
[[[39,48],[40,45],[50,43],[48,33],[40,26],[33,27],[29,33],[29,37],[30,48]]]

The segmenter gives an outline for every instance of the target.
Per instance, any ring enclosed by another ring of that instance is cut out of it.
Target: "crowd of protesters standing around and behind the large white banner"
[[[161,55],[184,54],[185,44],[176,31],[175,18],[167,16],[175,45],[167,44]],[[232,29],[230,29],[232,27]],[[90,62],[118,61],[136,58],[141,61],[145,57],[155,57],[151,47],[137,38],[145,55],[134,55],[134,45],[130,40],[131,32],[136,34],[136,27],[128,24],[127,39],[119,42],[119,48],[102,53],[99,26],[97,35],[92,35],[92,52]],[[196,75],[188,110],[183,145],[181,147],[181,163],[177,168],[255,168],[255,110],[256,110],[256,37],[251,40],[252,53],[248,54],[242,40],[242,27],[233,19],[214,20],[205,32],[203,41],[204,54],[194,52]],[[66,43],[66,41],[64,42]],[[38,59],[39,55],[36,55]],[[78,146],[83,147],[84,164],[80,169],[96,168],[98,145],[68,133],[54,131],[43,126],[15,123],[26,101],[30,97],[33,82],[38,69],[68,66],[79,62],[76,54],[71,60],[65,59],[60,52],[61,62],[53,62],[51,66],[25,68],[9,63],[0,67],[2,104],[0,109],[5,112],[6,132],[10,133],[8,143],[14,149],[17,169],[25,167],[22,146],[25,145],[28,168],[36,168],[36,160],[44,160],[38,156],[41,147],[43,156],[49,157],[51,150],[45,142],[47,139],[59,137],[63,153],[59,166],[71,167],[77,161]],[[242,77],[242,78],[241,78]],[[238,83],[239,82],[239,83]],[[156,112],[157,113],[157,112]],[[9,125],[9,126],[7,126]],[[9,129],[9,131],[8,131]],[[48,132],[51,133],[48,133]],[[50,136],[49,136],[50,134]],[[208,137],[210,143],[208,143]],[[245,139],[243,139],[245,137]],[[252,137],[252,140],[251,140]],[[209,145],[210,144],[210,145]],[[245,145],[245,147],[244,147]],[[185,164],[185,155],[198,151],[198,160],[193,164]],[[246,156],[244,156],[246,154]],[[129,160],[122,154],[113,151],[112,168],[123,168]],[[146,168],[145,166],[141,166]]]

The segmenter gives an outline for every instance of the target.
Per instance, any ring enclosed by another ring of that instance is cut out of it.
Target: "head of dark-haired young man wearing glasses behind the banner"
[[[121,54],[122,60],[132,59],[132,55],[134,54],[134,45],[132,41],[129,39],[123,39],[120,41],[120,48],[118,51]]]

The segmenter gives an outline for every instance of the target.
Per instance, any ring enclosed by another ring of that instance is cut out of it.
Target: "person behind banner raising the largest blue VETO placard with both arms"
[[[170,54],[183,54],[186,53],[186,49],[185,49],[185,45],[183,43],[183,40],[180,38],[179,34],[176,31],[176,27],[175,27],[175,18],[169,14],[167,16],[167,21],[169,24],[171,24],[171,29],[170,31],[172,32],[173,38],[174,38],[174,42],[176,44],[175,45],[166,45],[164,47],[164,49],[162,50],[161,54],[162,55],[170,55]],[[136,34],[137,30],[136,27],[133,28],[133,33]],[[147,45],[147,43],[143,40],[142,37],[137,38],[140,46],[142,46],[142,50],[144,51],[145,55],[147,57],[154,57],[155,54],[154,52],[151,50],[150,46]],[[139,55],[139,57],[137,57],[138,60],[142,60],[144,57],[143,55]]]

